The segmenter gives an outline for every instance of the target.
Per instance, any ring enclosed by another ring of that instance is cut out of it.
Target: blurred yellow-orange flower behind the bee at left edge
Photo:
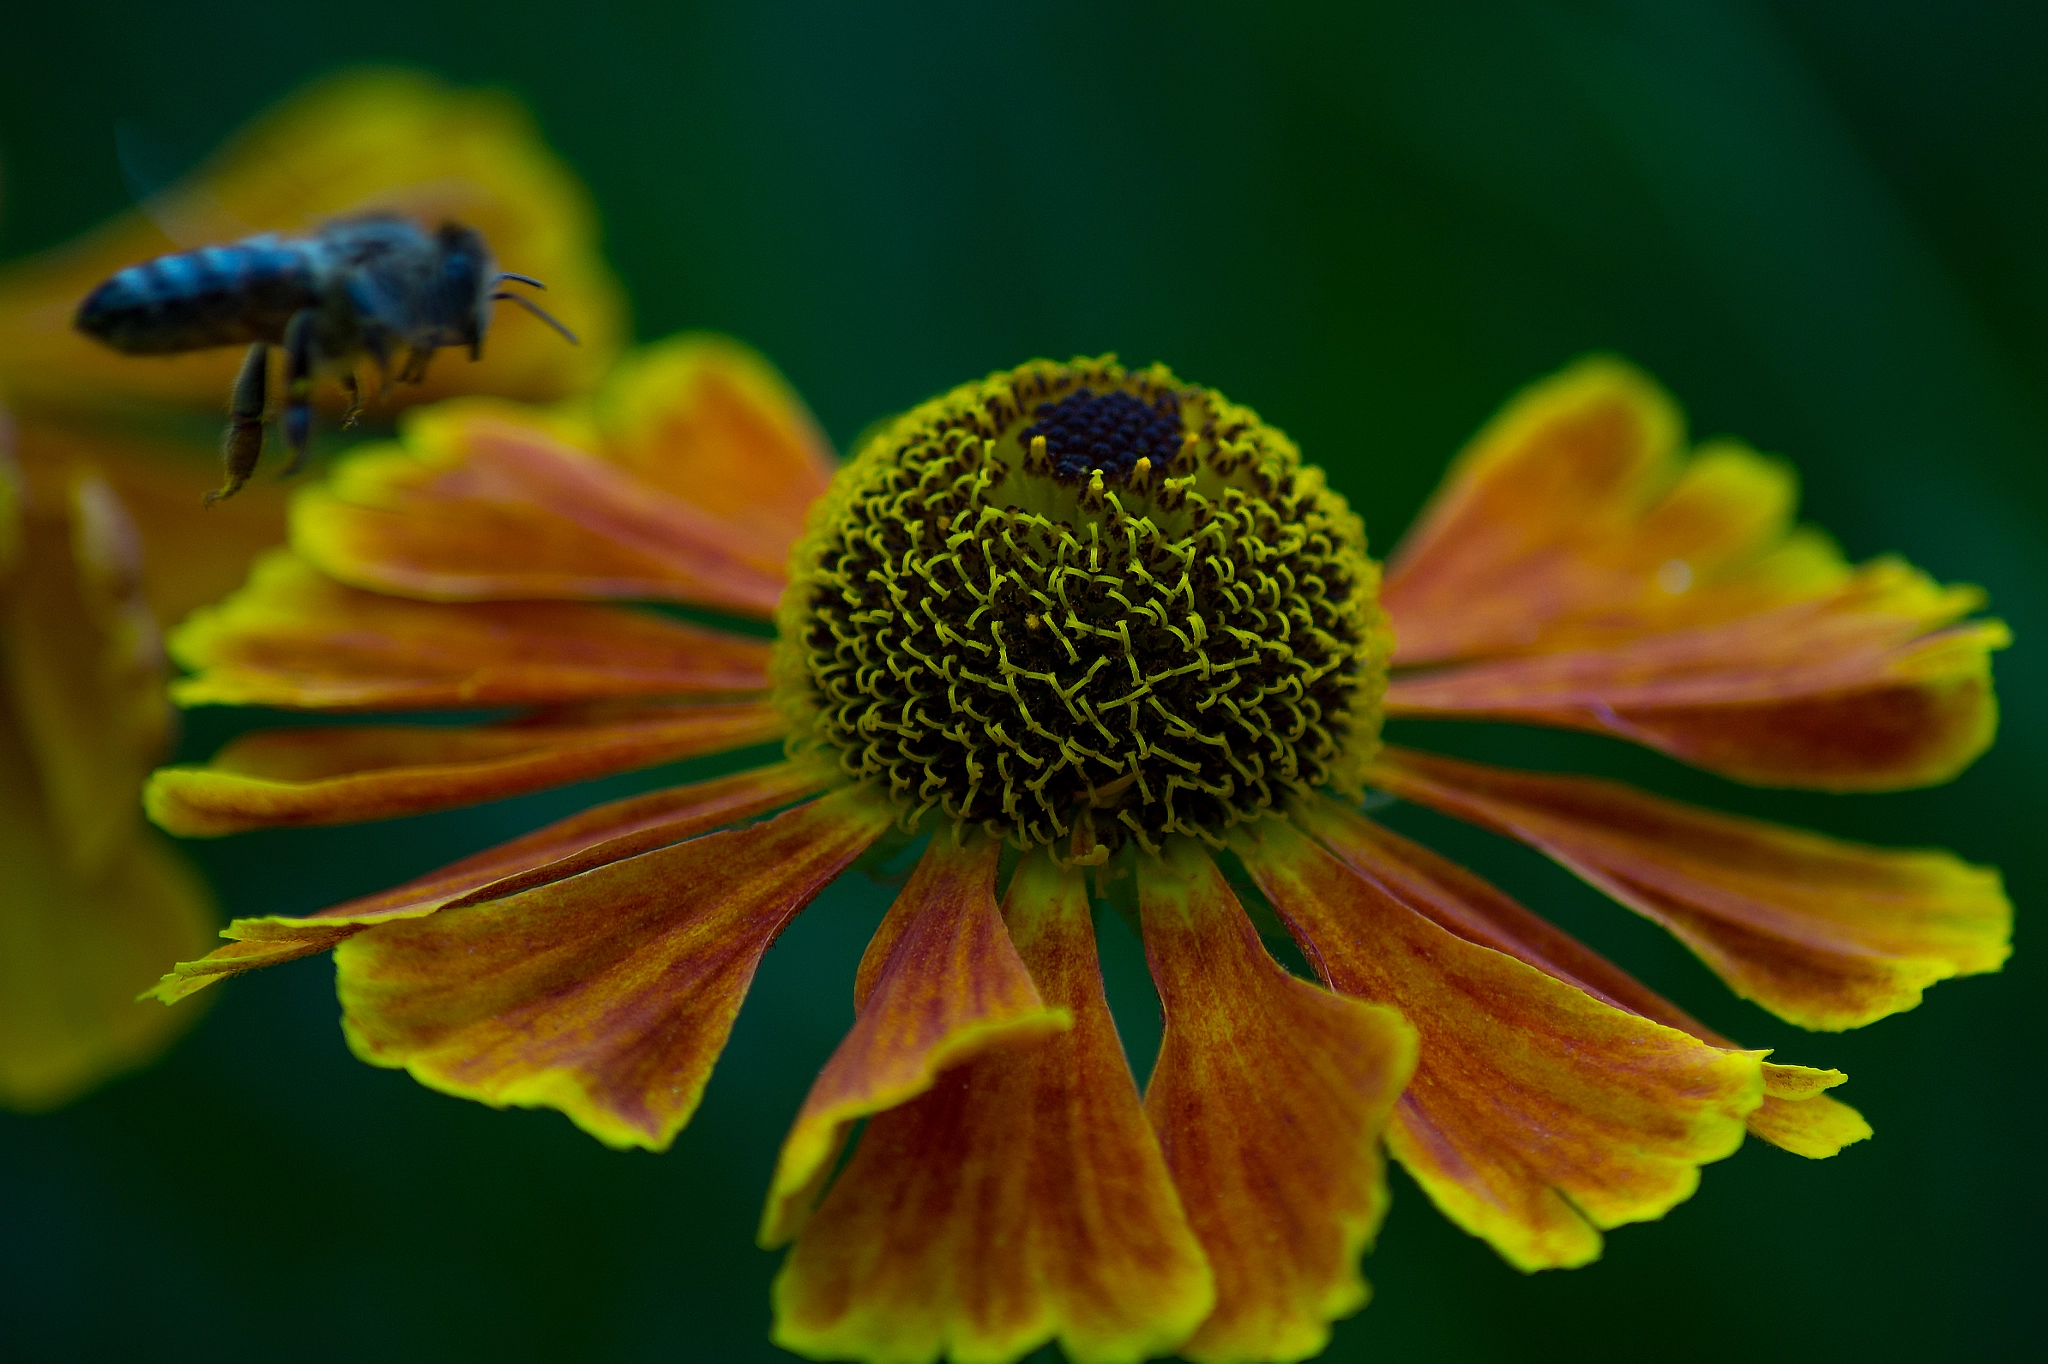
[[[0,432],[0,543],[14,547],[0,565],[0,840],[12,872],[0,885],[0,1104],[61,1104],[188,1022],[131,1008],[164,952],[205,950],[217,922],[139,817],[141,778],[170,733],[156,623],[215,600],[285,539],[274,485],[199,510],[219,483],[240,354],[121,356],[80,336],[72,313],[137,260],[379,207],[477,225],[508,264],[555,287],[584,336],[567,350],[508,313],[485,360],[442,360],[426,395],[555,399],[610,365],[625,307],[582,186],[510,100],[401,72],[315,86],[152,215],[127,213],[0,274],[0,399],[14,412]]]

